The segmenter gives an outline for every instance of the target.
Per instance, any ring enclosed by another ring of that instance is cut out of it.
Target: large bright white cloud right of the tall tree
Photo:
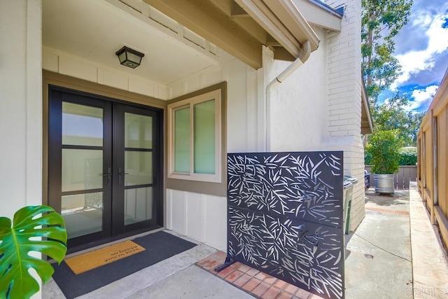
[[[419,15],[411,15],[411,18],[414,28],[426,32],[428,47],[425,50],[411,50],[395,56],[402,66],[402,74],[391,86],[392,90],[396,90],[398,85],[405,83],[411,74],[416,74],[424,69],[432,69],[435,57],[448,49],[448,28],[442,28],[442,24],[448,18],[448,13],[430,15],[427,11],[423,11]],[[409,39],[412,39],[412,35],[409,36]]]

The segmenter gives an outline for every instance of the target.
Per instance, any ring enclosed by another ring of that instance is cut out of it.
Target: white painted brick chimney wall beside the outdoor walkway
[[[361,53],[360,0],[328,0],[333,8],[344,6],[342,30],[328,37],[328,144],[344,150],[344,174],[354,176],[350,229],[365,216],[364,149],[360,141]],[[337,141],[337,139],[346,141]],[[331,145],[332,144],[332,145]],[[339,144],[339,146],[337,146]]]

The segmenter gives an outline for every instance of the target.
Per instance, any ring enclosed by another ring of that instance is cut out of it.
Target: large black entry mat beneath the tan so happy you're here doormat
[[[71,299],[90,293],[106,284],[196,246],[192,242],[167,232],[155,232],[132,241],[143,246],[146,250],[78,275],[74,274],[65,262],[60,265],[53,264],[55,268],[53,279],[55,279],[66,298]]]

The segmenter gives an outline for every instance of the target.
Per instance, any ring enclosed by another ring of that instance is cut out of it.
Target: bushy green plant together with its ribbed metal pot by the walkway
[[[393,176],[400,168],[401,139],[397,130],[377,131],[365,151],[370,155],[376,193],[393,193]]]

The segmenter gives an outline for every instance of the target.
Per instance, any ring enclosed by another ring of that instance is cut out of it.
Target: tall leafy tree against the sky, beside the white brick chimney
[[[381,90],[398,78],[393,36],[407,24],[412,0],[362,0],[361,53],[367,96],[375,106]]]

